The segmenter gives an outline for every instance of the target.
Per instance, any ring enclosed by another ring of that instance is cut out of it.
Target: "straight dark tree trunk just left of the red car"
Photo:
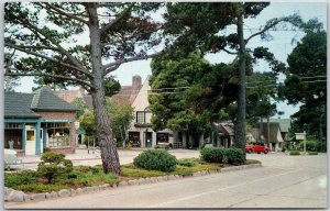
[[[239,36],[239,58],[240,58],[240,85],[239,85],[239,99],[238,99],[238,120],[235,126],[235,145],[245,153],[245,41],[243,35],[243,9],[238,16],[238,36]]]

